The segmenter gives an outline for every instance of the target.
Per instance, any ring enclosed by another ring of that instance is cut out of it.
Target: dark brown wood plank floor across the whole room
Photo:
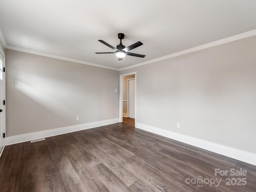
[[[215,175],[215,168],[229,172]],[[230,176],[230,169],[247,174]],[[202,183],[195,183],[200,179]],[[0,191],[255,192],[256,166],[137,129],[134,119],[126,118],[6,146],[0,158]]]

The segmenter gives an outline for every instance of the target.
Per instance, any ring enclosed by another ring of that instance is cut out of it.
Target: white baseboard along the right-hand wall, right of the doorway
[[[256,154],[136,122],[136,128],[256,165]]]

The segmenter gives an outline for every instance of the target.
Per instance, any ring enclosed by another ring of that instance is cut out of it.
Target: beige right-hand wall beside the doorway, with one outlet
[[[256,36],[130,72],[136,122],[256,154]]]

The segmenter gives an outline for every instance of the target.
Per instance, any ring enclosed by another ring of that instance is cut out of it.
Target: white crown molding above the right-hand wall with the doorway
[[[254,35],[256,35],[256,30],[248,31],[248,32],[245,32],[245,33],[242,33],[242,34],[234,35],[234,36],[231,36],[231,37],[228,37],[228,38],[225,38],[225,39],[217,40],[217,41],[207,43],[207,44],[204,44],[204,45],[200,45],[200,46],[197,46],[197,47],[194,47],[194,48],[186,49],[186,50],[176,52],[176,53],[173,53],[173,54],[170,54],[170,55],[166,55],[166,56],[163,56],[163,57],[160,57],[160,58],[156,58],[156,59],[153,59],[153,60],[149,60],[149,61],[146,61],[146,62],[135,64],[135,65],[132,65],[132,66],[120,68],[119,71],[126,70],[126,69],[131,69],[131,68],[134,68],[134,67],[138,67],[138,66],[142,66],[142,65],[146,65],[146,64],[150,64],[150,63],[154,63],[154,62],[158,62],[158,61],[161,61],[161,60],[165,60],[165,59],[169,59],[169,58],[172,58],[172,57],[184,55],[184,54],[187,54],[187,53],[199,51],[199,50],[202,50],[202,49],[210,48],[210,47],[213,47],[213,46],[217,46],[217,45],[221,45],[221,44],[224,44],[224,43],[236,41],[236,40],[243,39],[243,38],[250,37],[250,36],[254,36]]]

